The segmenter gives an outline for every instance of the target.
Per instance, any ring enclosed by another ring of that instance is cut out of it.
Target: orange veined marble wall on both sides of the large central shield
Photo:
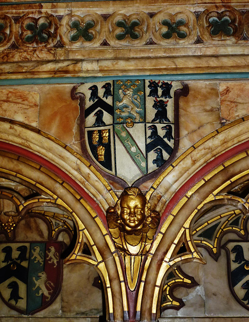
[[[249,81],[186,83],[189,95],[180,98],[180,144],[176,157],[210,132],[249,114]],[[79,107],[77,100],[71,100],[72,87],[72,84],[3,86],[0,115],[38,127],[82,154]]]

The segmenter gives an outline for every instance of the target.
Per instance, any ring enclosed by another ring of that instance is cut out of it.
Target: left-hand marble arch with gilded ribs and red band
[[[51,136],[24,124],[1,120],[0,172],[40,193],[18,202],[20,214],[39,206],[56,206],[71,214],[77,241],[66,263],[95,266],[106,290],[108,318],[122,320],[127,311],[117,254],[107,231],[104,209],[115,195],[105,179],[86,160]],[[75,156],[76,155],[76,156]],[[84,255],[88,240],[92,256]]]

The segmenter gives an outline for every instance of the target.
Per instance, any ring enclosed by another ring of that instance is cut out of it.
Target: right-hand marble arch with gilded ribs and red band
[[[176,159],[148,192],[151,204],[161,211],[161,222],[142,276],[139,299],[143,300],[137,306],[141,320],[159,315],[162,280],[172,266],[189,261],[205,264],[192,236],[196,213],[202,207],[210,201],[230,204],[247,215],[247,200],[229,195],[225,189],[247,176],[247,126],[248,117],[210,133]],[[183,241],[187,253],[179,255]]]

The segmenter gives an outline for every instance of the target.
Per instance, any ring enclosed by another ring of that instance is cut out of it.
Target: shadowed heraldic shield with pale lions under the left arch
[[[62,244],[0,244],[0,294],[22,314],[34,314],[58,296],[62,282]]]

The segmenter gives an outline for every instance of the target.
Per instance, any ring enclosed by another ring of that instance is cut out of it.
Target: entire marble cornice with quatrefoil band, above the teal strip
[[[249,71],[245,1],[6,3],[1,9],[0,78]]]

